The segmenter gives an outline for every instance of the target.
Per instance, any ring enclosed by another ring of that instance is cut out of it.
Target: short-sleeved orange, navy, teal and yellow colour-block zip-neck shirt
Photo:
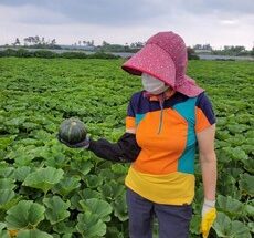
[[[126,130],[136,132],[141,151],[130,165],[126,186],[158,204],[191,204],[197,133],[214,123],[205,93],[188,97],[177,92],[162,105],[156,96],[135,93],[128,105]]]

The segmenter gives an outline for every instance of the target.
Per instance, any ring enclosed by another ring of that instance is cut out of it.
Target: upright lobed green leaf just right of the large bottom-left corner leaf
[[[70,216],[70,211],[67,211],[71,206],[70,200],[64,203],[59,196],[53,196],[52,198],[44,198],[43,204],[46,206],[46,219],[49,219],[52,225]]]

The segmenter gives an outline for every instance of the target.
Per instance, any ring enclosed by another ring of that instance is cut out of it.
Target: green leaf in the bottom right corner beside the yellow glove
[[[231,220],[225,214],[218,213],[213,225],[219,237],[251,238],[248,228],[239,220]]]

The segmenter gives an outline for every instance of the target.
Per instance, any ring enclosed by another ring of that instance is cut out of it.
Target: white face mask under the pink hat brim
[[[162,81],[157,80],[147,73],[142,73],[141,77],[144,90],[146,90],[148,93],[157,95],[169,89],[169,86],[165,85]]]

